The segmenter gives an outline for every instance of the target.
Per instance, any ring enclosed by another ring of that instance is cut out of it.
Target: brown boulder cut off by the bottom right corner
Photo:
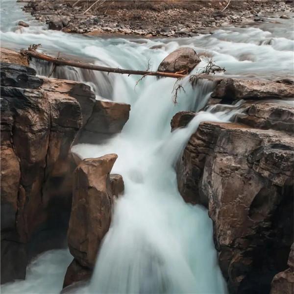
[[[289,253],[287,270],[277,273],[271,281],[270,294],[293,294],[294,292],[294,245]]]

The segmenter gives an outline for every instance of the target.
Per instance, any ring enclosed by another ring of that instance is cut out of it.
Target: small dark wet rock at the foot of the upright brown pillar
[[[79,281],[87,281],[91,278],[91,275],[92,270],[82,267],[76,259],[73,259],[72,263],[67,268],[63,288]]]

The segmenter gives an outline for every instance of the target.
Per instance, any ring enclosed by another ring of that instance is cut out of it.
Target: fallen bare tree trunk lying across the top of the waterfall
[[[135,74],[135,75],[156,75],[156,76],[165,76],[165,77],[173,77],[173,78],[182,78],[185,77],[186,74],[181,73],[164,73],[164,72],[148,72],[148,71],[135,71],[135,70],[124,70],[120,68],[111,68],[111,67],[104,67],[99,66],[91,63],[85,63],[85,62],[78,62],[63,58],[56,58],[52,57],[40,52],[37,52],[35,45],[32,45],[28,48],[28,50],[22,50],[21,53],[33,57],[36,59],[41,59],[45,61],[52,62],[56,65],[65,65],[65,66],[73,66],[80,69],[87,69],[87,70],[93,70],[93,71],[99,71],[99,72],[106,72],[106,73],[122,73],[122,74]]]

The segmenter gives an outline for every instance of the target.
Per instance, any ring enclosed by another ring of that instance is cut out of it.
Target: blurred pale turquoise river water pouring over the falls
[[[14,11],[13,13],[11,11]],[[30,27],[17,28],[19,20]],[[94,38],[47,30],[33,21],[14,1],[1,1],[1,46],[11,49],[42,44],[47,52],[62,52],[100,65],[134,70],[156,70],[174,49],[194,48],[202,59],[194,73],[213,56],[226,75],[274,79],[293,71],[293,22],[279,20],[259,27],[229,27],[213,34],[181,39]],[[50,68],[34,64],[39,75]],[[73,151],[82,157],[117,153],[113,173],[120,173],[124,195],[114,208],[109,232],[99,251],[89,285],[77,293],[227,293],[213,243],[212,221],[206,209],[183,201],[177,189],[175,162],[202,121],[227,122],[239,110],[201,111],[186,128],[171,132],[178,111],[198,111],[209,99],[214,84],[201,80],[172,101],[175,80],[58,67],[54,77],[83,81],[97,98],[131,105],[130,118],[121,134],[104,145],[80,144]],[[28,266],[26,279],[1,286],[3,294],[57,294],[72,261],[66,249],[50,250]]]

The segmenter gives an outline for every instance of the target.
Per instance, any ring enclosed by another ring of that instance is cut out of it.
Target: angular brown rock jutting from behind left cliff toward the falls
[[[98,143],[101,138],[120,133],[129,118],[130,105],[96,100],[86,125],[79,134],[79,143]]]

